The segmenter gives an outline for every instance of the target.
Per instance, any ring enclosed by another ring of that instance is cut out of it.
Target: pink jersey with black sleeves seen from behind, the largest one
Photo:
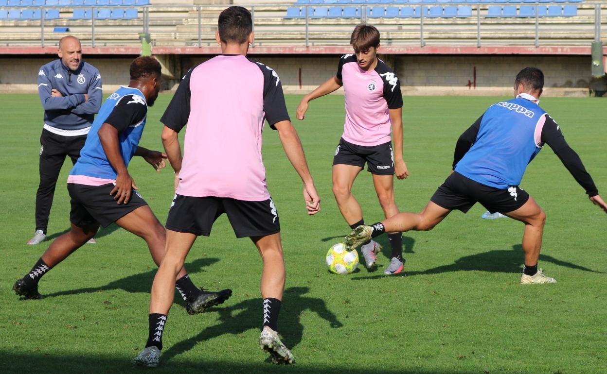
[[[262,161],[262,130],[290,120],[280,78],[242,55],[216,56],[186,73],[160,119],[186,124],[177,194],[245,201],[270,198]]]

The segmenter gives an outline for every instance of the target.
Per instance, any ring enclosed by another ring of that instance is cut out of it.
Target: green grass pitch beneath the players
[[[158,119],[169,99],[161,95],[151,108],[144,147],[161,148]],[[287,97],[291,115],[299,99]],[[497,99],[404,98],[410,177],[395,182],[401,210],[424,207],[449,174],[459,134]],[[607,191],[604,99],[542,98],[541,104],[599,191]],[[34,230],[42,109],[37,95],[0,95],[0,110],[0,372],[140,372],[131,359],[146,341],[155,274],[142,239],[110,226],[100,231],[97,245],[84,245],[44,276],[39,290],[46,298],[19,301],[13,293],[13,282],[49,244],[25,244]],[[404,233],[402,276],[383,276],[389,249],[375,272],[361,266],[339,276],[327,271],[324,256],[349,231],[331,193],[331,161],[343,121],[342,96],[328,96],[312,102],[305,121],[296,123],[322,198],[316,216],[305,212],[299,177],[277,133],[266,127],[263,139],[287,264],[279,330],[296,365],[271,366],[257,346],[262,262],[249,239],[236,239],[222,216],[210,238],[195,242],[186,267],[198,286],[229,287],[234,294],[203,315],[174,306],[156,372],[606,372],[607,217],[548,147],[521,187],[548,215],[540,267],[557,284],[518,284],[523,224],[483,220],[478,204],[466,215],[453,212],[432,232]],[[68,161],[59,176],[51,239],[69,227],[69,168]],[[156,173],[138,158],[129,170],[164,222],[173,196],[171,170]],[[383,218],[367,172],[353,192],[367,222]],[[379,239],[388,247],[387,238]]]

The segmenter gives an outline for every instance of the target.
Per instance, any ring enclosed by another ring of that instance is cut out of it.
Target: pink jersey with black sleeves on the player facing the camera
[[[378,58],[375,69],[362,70],[356,55],[339,60],[337,79],[344,84],[345,141],[357,145],[379,145],[390,141],[388,109],[402,107],[401,84],[384,61]]]

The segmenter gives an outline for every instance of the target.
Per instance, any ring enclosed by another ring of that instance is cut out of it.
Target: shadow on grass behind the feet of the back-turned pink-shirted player
[[[282,296],[279,330],[280,335],[284,336],[282,339],[283,343],[290,349],[293,349],[302,340],[304,325],[300,321],[300,316],[306,310],[317,313],[320,318],[329,322],[333,329],[344,326],[339,322],[337,316],[327,309],[327,305],[323,299],[303,296],[308,292],[310,292],[309,287],[290,287],[285,290]],[[209,326],[198,335],[163,350],[163,360],[169,360],[180,353],[191,350],[198,342],[208,341],[221,335],[240,335],[251,329],[260,331],[262,317],[261,298],[248,299],[234,306],[222,309],[213,308],[211,310],[217,310],[219,313],[219,324]],[[251,342],[252,347],[255,344],[257,342]]]

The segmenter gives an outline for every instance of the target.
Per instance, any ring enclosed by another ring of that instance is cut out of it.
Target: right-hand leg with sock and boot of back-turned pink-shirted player
[[[261,292],[263,298],[263,329],[259,346],[270,353],[276,364],[293,364],[293,353],[282,344],[277,333],[277,320],[285,289],[285,261],[280,233],[252,237],[263,259]]]

